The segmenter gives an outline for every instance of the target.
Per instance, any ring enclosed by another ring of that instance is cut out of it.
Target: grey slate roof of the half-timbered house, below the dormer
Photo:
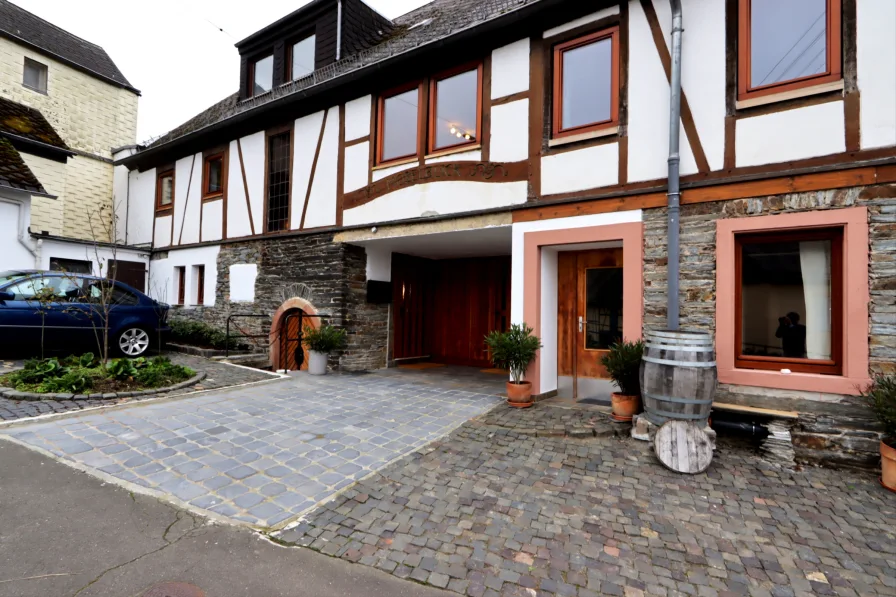
[[[364,69],[540,1],[435,0],[395,19],[395,30],[378,45],[347,56],[339,62],[316,70],[308,77],[282,85],[264,95],[239,101],[239,94],[234,93],[155,139],[147,147],[164,145],[237,114]]]

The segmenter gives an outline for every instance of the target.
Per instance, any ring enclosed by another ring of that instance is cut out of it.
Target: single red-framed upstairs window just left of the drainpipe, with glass
[[[619,124],[619,27],[554,46],[553,136]]]

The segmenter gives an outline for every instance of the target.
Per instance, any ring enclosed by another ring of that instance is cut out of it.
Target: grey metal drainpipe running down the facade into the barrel
[[[681,189],[679,180],[679,131],[681,130],[681,0],[671,0],[672,4],[672,77],[669,109],[669,194],[668,194],[668,270],[667,270],[667,303],[666,318],[667,327],[670,330],[678,329],[678,282],[679,282],[679,203]]]

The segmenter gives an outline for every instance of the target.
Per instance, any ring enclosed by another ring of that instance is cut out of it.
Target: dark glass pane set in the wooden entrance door
[[[585,348],[606,350],[622,339],[622,268],[585,272]]]

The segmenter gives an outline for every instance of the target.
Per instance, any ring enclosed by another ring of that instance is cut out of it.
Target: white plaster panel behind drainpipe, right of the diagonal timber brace
[[[672,8],[669,0],[653,0],[653,5],[671,55]],[[681,10],[686,19],[681,85],[709,166],[720,170],[725,162],[725,3],[682,0]],[[668,108],[665,117],[668,130]],[[681,140],[682,144],[688,142],[683,135]]]

